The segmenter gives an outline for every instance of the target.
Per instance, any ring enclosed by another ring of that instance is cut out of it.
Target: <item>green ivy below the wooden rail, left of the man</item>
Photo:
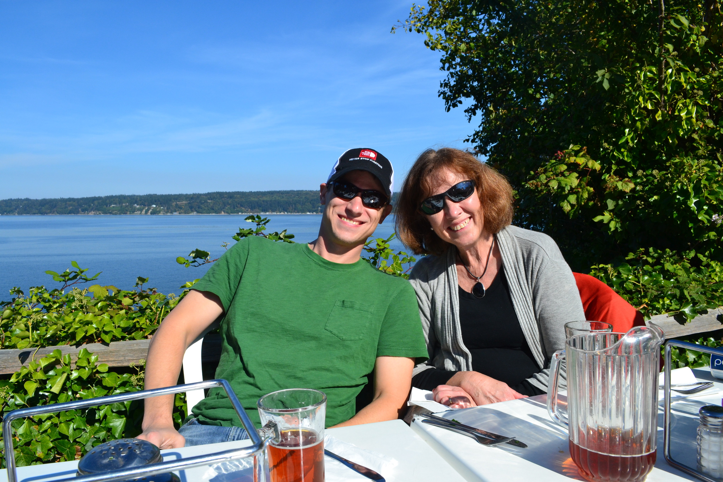
[[[112,371],[85,348],[71,363],[69,355],[54,350],[31,360],[9,380],[0,380],[0,413],[142,390],[142,366],[133,368],[135,373]],[[133,400],[13,421],[17,465],[76,460],[102,442],[136,436],[141,433],[142,406],[142,400]],[[176,395],[176,427],[186,416],[185,410],[184,395]]]

